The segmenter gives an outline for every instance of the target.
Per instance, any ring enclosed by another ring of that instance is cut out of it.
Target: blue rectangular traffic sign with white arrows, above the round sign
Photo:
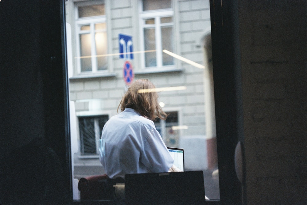
[[[132,36],[126,34],[119,34],[119,58],[133,59],[133,43]]]

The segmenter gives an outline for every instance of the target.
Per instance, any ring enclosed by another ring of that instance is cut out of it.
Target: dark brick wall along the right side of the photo
[[[239,1],[248,204],[307,203],[304,1]]]

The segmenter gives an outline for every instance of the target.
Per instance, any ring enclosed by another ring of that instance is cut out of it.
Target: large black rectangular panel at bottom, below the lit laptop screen
[[[125,175],[126,204],[205,204],[203,171]]]

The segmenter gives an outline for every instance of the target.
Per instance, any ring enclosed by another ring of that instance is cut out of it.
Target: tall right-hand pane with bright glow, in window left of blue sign
[[[107,33],[97,32],[95,35],[96,54],[97,54],[97,70],[107,69]],[[104,56],[99,56],[104,55]]]

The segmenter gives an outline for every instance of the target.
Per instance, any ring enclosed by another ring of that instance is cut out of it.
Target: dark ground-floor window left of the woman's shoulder
[[[79,116],[80,155],[98,155],[99,139],[104,124],[109,120],[108,115]]]

